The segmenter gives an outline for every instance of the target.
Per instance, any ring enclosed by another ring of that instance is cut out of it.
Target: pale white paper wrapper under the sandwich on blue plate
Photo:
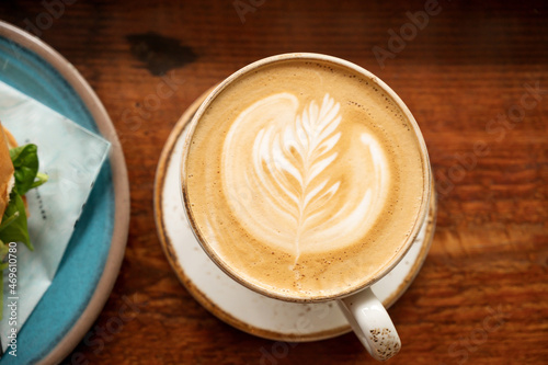
[[[7,307],[13,300],[10,298],[18,298],[19,332],[54,280],[93,182],[109,156],[110,144],[3,82],[0,121],[20,145],[38,146],[39,171],[49,175],[47,183],[26,194],[34,251],[18,243],[16,295],[10,294],[8,270],[3,275],[0,335],[5,352],[7,335],[13,328]]]

